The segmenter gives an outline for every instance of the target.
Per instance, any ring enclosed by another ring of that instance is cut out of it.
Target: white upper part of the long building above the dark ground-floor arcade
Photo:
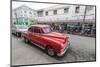
[[[56,5],[37,10],[39,23],[95,23],[95,6]],[[85,17],[84,17],[85,15]]]

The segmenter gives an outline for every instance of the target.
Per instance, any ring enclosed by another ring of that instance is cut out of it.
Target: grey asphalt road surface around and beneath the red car
[[[95,38],[69,35],[70,49],[63,57],[50,57],[42,49],[12,35],[12,65],[95,61]]]

